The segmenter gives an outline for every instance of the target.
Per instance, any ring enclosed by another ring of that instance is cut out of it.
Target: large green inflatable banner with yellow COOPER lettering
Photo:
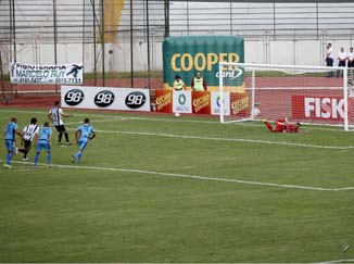
[[[163,42],[164,88],[173,89],[179,75],[190,88],[195,72],[201,72],[208,90],[218,90],[218,63],[244,62],[243,38],[235,36],[170,37]],[[228,68],[224,73],[227,90],[243,91],[243,73]]]

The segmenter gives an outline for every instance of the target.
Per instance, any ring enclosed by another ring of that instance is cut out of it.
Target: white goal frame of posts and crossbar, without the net
[[[317,72],[329,72],[329,71],[343,71],[343,99],[344,99],[344,117],[343,117],[343,128],[345,131],[349,130],[350,126],[349,126],[349,68],[347,65],[345,67],[339,67],[339,66],[332,66],[332,67],[328,67],[328,66],[307,66],[307,65],[279,65],[279,64],[253,64],[253,63],[230,63],[230,62],[219,62],[219,104],[220,104],[220,109],[224,109],[224,97],[225,97],[225,89],[224,89],[224,68],[226,66],[233,66],[233,67],[246,67],[248,71],[252,72],[252,76],[251,76],[251,87],[249,87],[248,89],[251,90],[250,91],[250,96],[251,96],[251,101],[250,101],[250,115],[244,117],[244,118],[239,118],[239,120],[226,120],[225,118],[225,113],[224,111],[220,111],[219,114],[219,121],[220,123],[230,123],[230,122],[243,122],[243,121],[254,121],[255,118],[255,70],[267,70],[267,68],[271,68],[271,70],[298,70],[298,71],[309,71],[309,70],[314,70]],[[354,68],[353,68],[354,71]],[[352,75],[352,74],[351,74]],[[354,83],[354,79],[352,80]],[[331,125],[331,124],[323,124],[323,125]]]

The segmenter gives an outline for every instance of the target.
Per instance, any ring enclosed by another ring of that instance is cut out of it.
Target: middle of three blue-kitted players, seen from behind
[[[49,127],[49,123],[46,122],[43,127],[40,127],[38,133],[35,135],[35,166],[37,166],[38,158],[41,149],[47,151],[47,166],[50,167],[52,160],[51,144],[52,144],[52,128]]]

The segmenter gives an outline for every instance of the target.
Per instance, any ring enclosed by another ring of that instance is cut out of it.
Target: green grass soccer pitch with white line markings
[[[289,263],[354,259],[354,134],[258,122],[66,111],[97,130],[83,156],[0,168],[0,262]],[[45,110],[0,109],[22,129]],[[3,133],[0,136],[3,139]],[[3,140],[2,140],[3,142]],[[4,144],[0,159],[5,158]]]

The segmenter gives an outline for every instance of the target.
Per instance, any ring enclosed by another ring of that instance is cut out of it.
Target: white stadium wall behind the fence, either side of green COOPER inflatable
[[[353,46],[352,40],[245,40],[245,63],[260,64],[287,64],[287,65],[325,65],[326,43],[331,42],[333,54],[337,58],[340,47],[345,51]],[[86,43],[83,51],[81,43],[58,43],[58,63],[83,62],[85,72],[93,72],[93,45]],[[10,47],[0,45],[3,56],[3,68],[9,68]],[[33,64],[53,64],[53,45],[33,43],[18,45],[16,53],[17,62]],[[99,49],[101,50],[101,49]],[[150,42],[150,68],[152,71],[163,70],[162,42]],[[147,71],[147,42],[135,42],[132,45],[135,71]],[[97,68],[101,70],[101,60],[98,60]],[[337,60],[334,60],[337,65]],[[117,42],[105,46],[105,71],[129,72],[130,70],[130,43]]]

